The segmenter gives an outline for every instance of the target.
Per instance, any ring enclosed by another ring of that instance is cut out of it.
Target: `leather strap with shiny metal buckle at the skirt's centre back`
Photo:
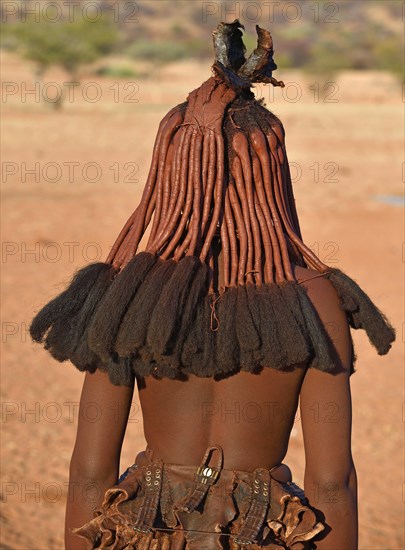
[[[209,466],[209,454],[211,451],[218,451],[218,459],[216,466]],[[204,458],[194,474],[195,487],[189,496],[186,496],[182,501],[175,505],[175,509],[180,512],[193,512],[202,502],[207,494],[208,488],[213,485],[218,479],[219,473],[223,465],[223,450],[220,445],[208,447],[205,451]]]

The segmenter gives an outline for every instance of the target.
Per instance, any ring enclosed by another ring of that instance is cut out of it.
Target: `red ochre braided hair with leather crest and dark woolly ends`
[[[283,125],[251,90],[284,86],[272,76],[272,37],[256,26],[246,59],[241,28],[218,25],[213,75],[162,119],[141,201],[106,262],[78,271],[34,318],[32,338],[57,360],[104,370],[114,384],[302,363],[336,372],[293,264],[331,281],[350,326],[380,355],[395,340],[357,283],[302,240]]]

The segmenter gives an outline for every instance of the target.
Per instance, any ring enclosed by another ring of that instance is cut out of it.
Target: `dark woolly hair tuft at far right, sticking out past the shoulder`
[[[384,313],[359,285],[340,269],[331,268],[326,276],[341,299],[341,307],[348,316],[350,326],[354,329],[364,329],[378,354],[387,354],[395,340],[396,331]]]

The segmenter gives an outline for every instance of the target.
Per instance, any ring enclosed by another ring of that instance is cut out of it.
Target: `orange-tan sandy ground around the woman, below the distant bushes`
[[[160,119],[209,75],[209,64],[184,63],[131,85],[88,77],[73,101],[54,112],[25,95],[24,86],[34,86],[31,67],[3,58],[3,80],[12,83],[3,102],[2,151],[3,549],[63,548],[83,380],[31,343],[30,319],[74,269],[106,257],[138,203]],[[264,86],[257,94],[285,125],[304,240],[357,280],[397,328],[384,357],[364,332],[354,332],[358,363],[351,379],[359,548],[397,550],[404,548],[404,217],[400,205],[376,196],[399,197],[403,188],[400,85],[390,75],[347,73],[318,100],[320,79],[278,77],[290,95]],[[46,80],[62,86],[63,79],[55,71]],[[27,172],[33,169],[37,176]],[[144,443],[136,395],[122,469]],[[301,484],[298,417],[286,462]]]

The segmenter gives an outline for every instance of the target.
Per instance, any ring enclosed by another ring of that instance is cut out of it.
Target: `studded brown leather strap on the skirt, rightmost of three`
[[[234,538],[238,544],[248,545],[257,541],[270,503],[271,477],[268,470],[256,468],[253,472],[253,499],[239,533]]]

